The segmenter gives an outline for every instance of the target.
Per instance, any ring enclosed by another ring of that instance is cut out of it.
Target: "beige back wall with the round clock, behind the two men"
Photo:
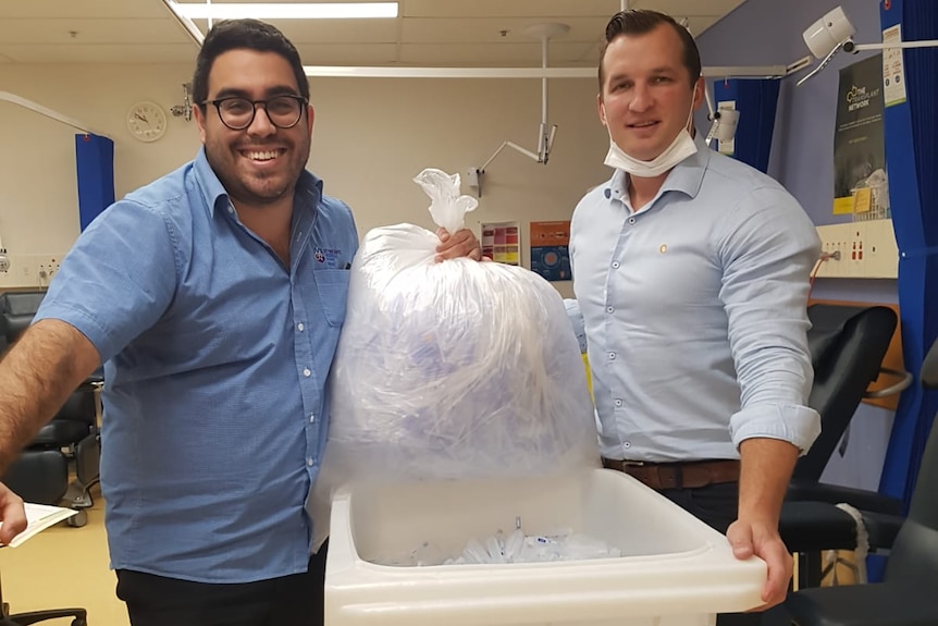
[[[77,119],[114,139],[118,197],[175,169],[198,149],[195,122],[170,118],[162,139],[135,140],[127,109],[182,101],[183,65],[0,65],[0,90]],[[539,79],[311,78],[316,108],[310,169],[326,193],[354,209],[359,233],[382,224],[432,228],[429,198],[411,182],[428,167],[462,172],[504,140],[533,150],[541,121]],[[595,83],[548,82],[550,120],[558,125],[551,162],[506,148],[489,167],[480,207],[468,216],[522,223],[565,220],[608,175],[607,136],[596,119]],[[78,234],[75,131],[0,101],[0,236],[11,255],[61,254]],[[464,192],[469,189],[464,185]],[[570,294],[569,283],[555,283]]]

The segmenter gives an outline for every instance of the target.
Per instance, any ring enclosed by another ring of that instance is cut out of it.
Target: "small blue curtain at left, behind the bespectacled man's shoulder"
[[[75,135],[78,221],[84,231],[114,202],[114,142],[99,135]]]

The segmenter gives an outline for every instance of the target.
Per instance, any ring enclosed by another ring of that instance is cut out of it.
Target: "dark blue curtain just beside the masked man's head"
[[[776,78],[714,82],[714,106],[719,108],[719,102],[732,100],[739,111],[732,157],[761,172],[768,170],[779,84]]]

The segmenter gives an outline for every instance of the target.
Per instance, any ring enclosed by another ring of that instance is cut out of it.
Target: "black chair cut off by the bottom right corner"
[[[922,367],[938,389],[938,342]],[[933,425],[908,517],[891,547],[883,582],[804,589],[785,602],[799,626],[935,626],[938,624],[938,428]],[[866,520],[866,515],[864,515]]]

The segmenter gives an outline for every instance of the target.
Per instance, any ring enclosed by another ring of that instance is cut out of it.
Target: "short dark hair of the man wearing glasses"
[[[218,22],[206,35],[199,56],[196,58],[196,72],[193,75],[193,100],[205,112],[209,97],[209,72],[215,59],[230,50],[257,50],[275,52],[293,67],[299,95],[309,99],[309,81],[303,71],[299,52],[283,33],[259,20],[223,20]]]

